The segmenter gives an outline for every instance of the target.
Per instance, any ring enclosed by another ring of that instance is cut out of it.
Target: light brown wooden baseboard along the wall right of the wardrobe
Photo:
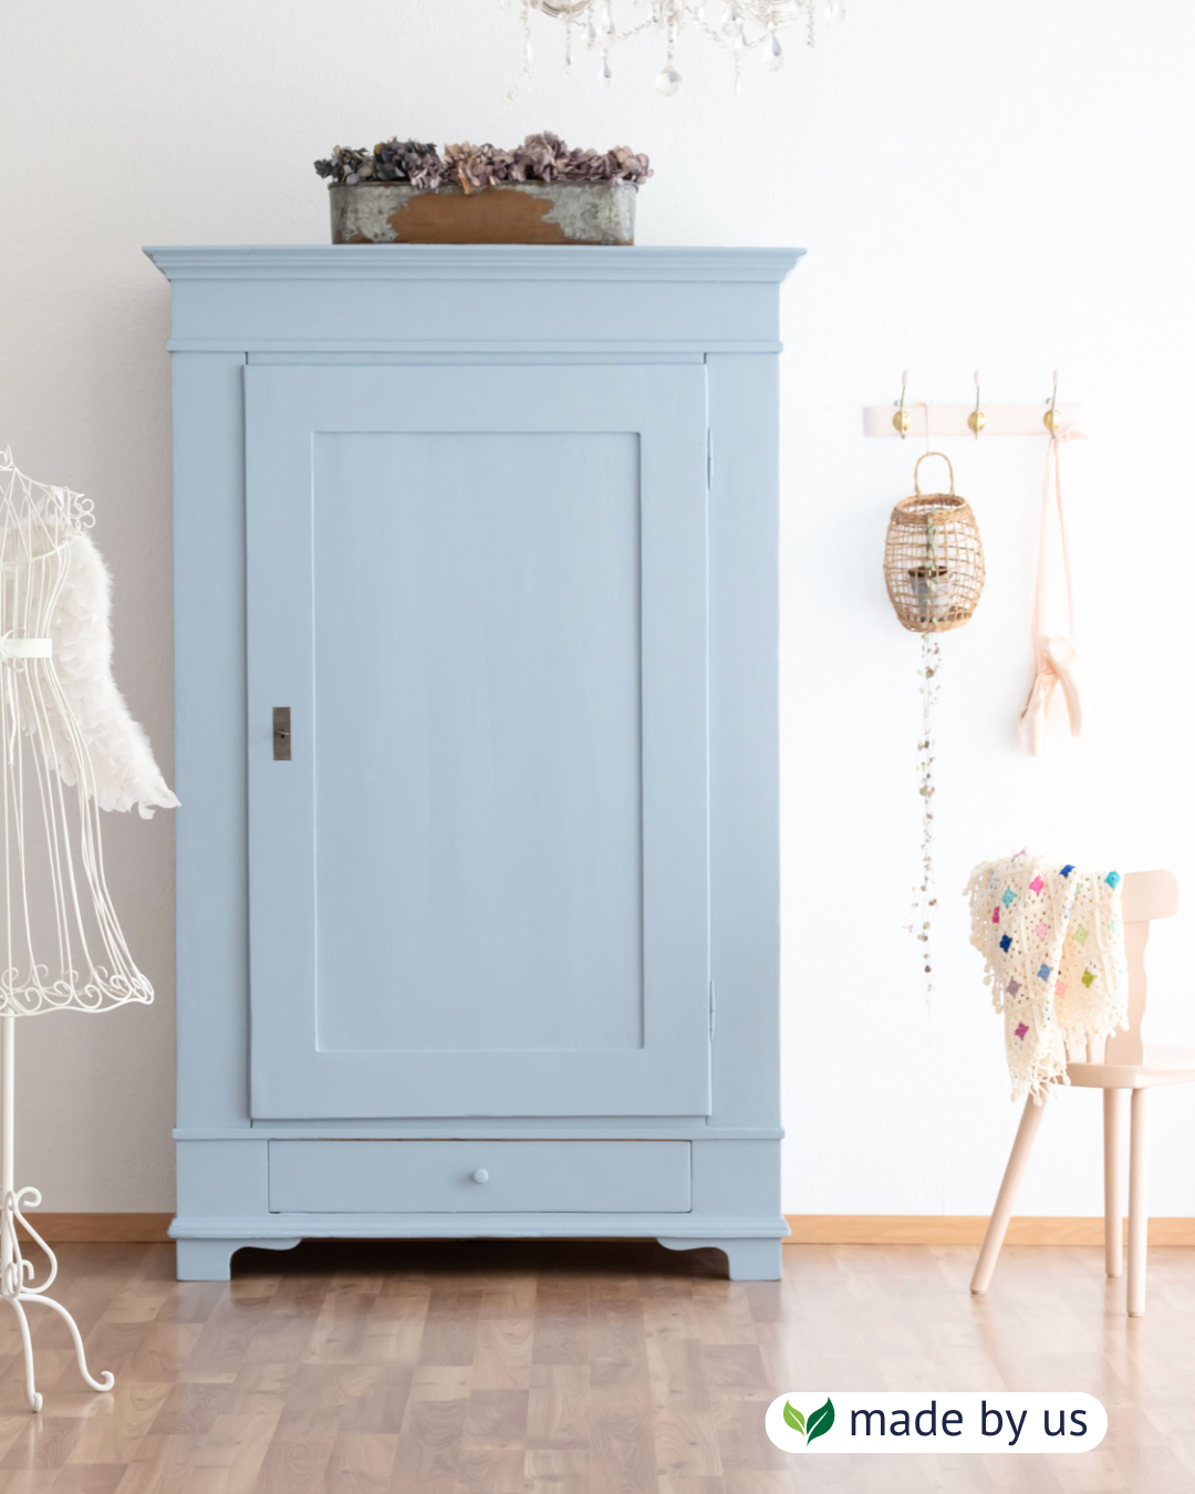
[[[787,1215],[786,1245],[980,1245],[983,1215]],[[1013,1218],[1005,1245],[1102,1245],[1102,1216]],[[1150,1219],[1150,1245],[1195,1245],[1195,1219]]]

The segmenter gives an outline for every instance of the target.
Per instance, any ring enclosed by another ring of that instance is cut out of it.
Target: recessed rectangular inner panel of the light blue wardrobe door
[[[320,1047],[639,1047],[638,436],[320,435],[314,472]]]

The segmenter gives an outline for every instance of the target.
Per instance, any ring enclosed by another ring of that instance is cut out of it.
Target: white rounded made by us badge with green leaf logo
[[[784,1452],[1090,1452],[1108,1413],[1081,1391],[787,1391],[763,1428]]]

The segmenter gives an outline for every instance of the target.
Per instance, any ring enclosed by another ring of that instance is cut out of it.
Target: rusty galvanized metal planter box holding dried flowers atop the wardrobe
[[[633,244],[635,182],[332,182],[333,244]]]

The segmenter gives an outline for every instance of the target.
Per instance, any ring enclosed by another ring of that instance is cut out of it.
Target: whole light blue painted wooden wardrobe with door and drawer
[[[793,249],[172,285],[178,1270],[653,1236],[780,1274]]]

